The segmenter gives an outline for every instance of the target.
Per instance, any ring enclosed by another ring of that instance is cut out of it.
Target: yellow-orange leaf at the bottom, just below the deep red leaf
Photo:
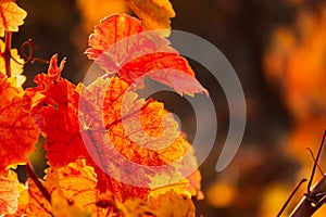
[[[110,191],[101,193],[97,188],[98,178],[101,179],[101,176],[103,174],[96,174],[92,167],[86,165],[85,159],[77,159],[59,169],[47,169],[46,187],[51,192],[52,202],[54,202],[52,213],[61,216],[64,214],[63,207],[70,209],[71,214],[77,212],[97,217],[111,216],[116,213],[116,203],[120,204],[122,199]],[[113,179],[110,181],[110,187],[115,191],[123,192],[126,188]],[[128,196],[139,199],[140,195],[129,194]],[[67,216],[73,215],[67,214]]]

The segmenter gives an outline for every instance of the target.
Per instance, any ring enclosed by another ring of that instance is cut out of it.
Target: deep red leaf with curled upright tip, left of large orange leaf
[[[61,78],[64,63],[63,60],[58,66],[58,55],[54,55],[48,75],[37,75],[35,81],[38,86],[25,93],[32,99],[32,116],[47,138],[47,158],[54,168],[87,155],[77,119],[78,92],[75,85]]]

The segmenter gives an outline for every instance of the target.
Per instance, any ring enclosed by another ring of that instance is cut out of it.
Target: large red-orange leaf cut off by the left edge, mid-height
[[[0,174],[11,164],[27,162],[35,150],[39,129],[29,116],[24,91],[16,87],[14,78],[0,74]]]

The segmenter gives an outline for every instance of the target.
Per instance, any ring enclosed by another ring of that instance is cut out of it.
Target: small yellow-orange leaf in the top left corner
[[[0,0],[0,37],[4,36],[4,31],[18,31],[26,15],[26,11],[13,0]]]

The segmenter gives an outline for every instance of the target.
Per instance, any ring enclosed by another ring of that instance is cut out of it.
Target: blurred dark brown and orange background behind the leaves
[[[92,63],[84,54],[88,36],[100,18],[113,12],[129,13],[120,0],[18,0],[28,12],[13,47],[33,39],[34,56],[67,56],[63,77],[77,84]],[[302,179],[309,178],[313,157],[326,129],[326,2],[318,0],[172,0],[177,16],[174,29],[214,43],[228,59],[242,84],[247,128],[231,164],[215,171],[227,135],[228,106],[223,89],[204,67],[190,61],[198,79],[215,102],[218,130],[214,150],[200,166],[203,201],[198,216],[276,216]],[[26,87],[46,72],[40,62],[26,65]],[[193,111],[174,93],[153,95],[179,115],[191,141]],[[41,144],[38,144],[41,145]],[[325,154],[319,166],[326,169]],[[32,156],[37,165],[43,159]],[[43,167],[38,166],[41,175]],[[321,177],[316,173],[316,177]],[[316,179],[317,179],[316,178]],[[316,181],[315,179],[315,181]],[[299,202],[302,187],[285,212]],[[321,208],[315,216],[325,216]]]

